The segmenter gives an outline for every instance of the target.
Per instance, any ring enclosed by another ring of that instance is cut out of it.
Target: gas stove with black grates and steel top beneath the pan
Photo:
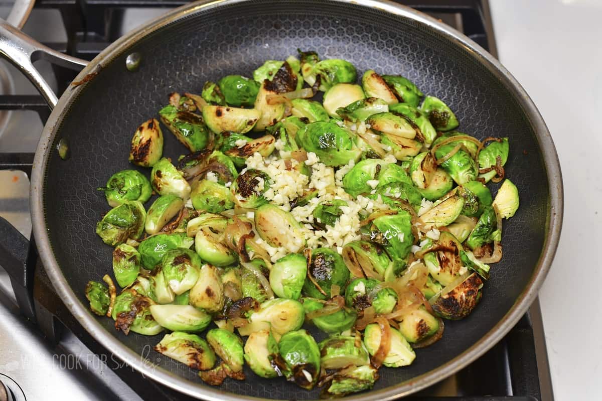
[[[496,55],[486,0],[399,2],[448,23]],[[181,4],[181,0],[38,0],[24,31],[51,48],[92,60],[122,34]],[[72,71],[36,65],[57,93],[75,78]],[[8,238],[0,225],[0,401],[187,400],[144,378],[96,343],[55,293],[37,260],[33,240],[26,241],[31,233],[33,152],[49,109],[7,63],[0,64],[0,91],[0,217],[23,235]],[[2,241],[20,241],[27,275],[3,259]],[[407,399],[553,400],[539,302],[477,361]]]

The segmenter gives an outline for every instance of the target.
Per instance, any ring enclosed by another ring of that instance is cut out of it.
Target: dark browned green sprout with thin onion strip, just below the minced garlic
[[[274,267],[275,266],[276,265],[274,265]],[[347,283],[347,279],[349,279],[349,269],[345,266],[343,258],[341,258],[341,255],[335,250],[330,248],[317,248],[312,250],[311,264],[309,264],[308,269],[308,274],[311,275],[313,281],[309,278],[305,279],[303,294],[313,298],[329,299],[330,288],[332,288],[332,285],[338,285],[339,288],[343,288]],[[274,269],[272,268],[272,272],[273,271]],[[270,277],[271,276],[270,273]],[[321,290],[324,291],[326,295],[318,290],[314,282],[320,286]],[[276,293],[276,290],[274,292]],[[278,295],[278,293],[276,293],[276,295]]]

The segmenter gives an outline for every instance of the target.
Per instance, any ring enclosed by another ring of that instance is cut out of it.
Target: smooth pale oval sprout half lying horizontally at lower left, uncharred
[[[190,305],[151,305],[153,319],[171,331],[203,331],[211,315]]]

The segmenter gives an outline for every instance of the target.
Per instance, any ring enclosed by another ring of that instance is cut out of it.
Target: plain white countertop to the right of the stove
[[[500,61],[539,108],[562,167],[562,237],[540,295],[554,396],[602,400],[602,1],[489,3]]]

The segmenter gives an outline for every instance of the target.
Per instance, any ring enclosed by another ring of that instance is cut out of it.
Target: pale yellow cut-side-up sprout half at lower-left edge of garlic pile
[[[255,210],[255,229],[271,246],[284,247],[289,252],[297,252],[305,246],[301,223],[276,205],[265,204]]]

